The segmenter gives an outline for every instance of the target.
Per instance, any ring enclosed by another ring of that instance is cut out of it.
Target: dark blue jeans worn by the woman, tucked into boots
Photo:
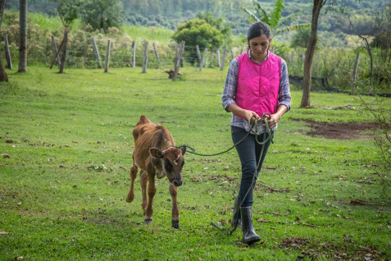
[[[247,134],[247,131],[244,128],[239,128],[235,126],[231,126],[231,135],[232,135],[232,141],[235,144],[236,142],[240,141],[245,135]],[[271,133],[272,137],[274,136],[274,132]],[[266,135],[266,138],[268,137],[268,134]],[[258,135],[258,141],[263,142],[264,141],[264,134]],[[242,204],[242,207],[251,207],[252,206],[252,194],[255,186],[256,179],[258,177],[258,173],[260,171],[260,168],[262,167],[262,163],[265,160],[266,153],[268,151],[270,145],[270,140],[265,143],[265,148],[263,151],[263,154],[260,159],[259,167],[256,170],[255,180],[254,184],[251,184],[254,172],[256,169],[256,165],[259,160],[260,151],[262,150],[262,146],[258,144],[255,141],[255,135],[249,134],[246,139],[244,139],[240,144],[236,145],[236,151],[239,155],[239,158],[242,163],[242,180],[241,185],[239,189],[238,197],[240,201],[244,199],[247,191],[250,188],[249,193],[247,194],[247,197],[245,201]]]

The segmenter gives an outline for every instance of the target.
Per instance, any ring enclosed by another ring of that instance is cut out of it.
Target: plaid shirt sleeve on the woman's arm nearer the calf
[[[223,96],[221,97],[223,107],[226,111],[229,104],[235,103],[234,97],[236,93],[236,86],[237,86],[237,59],[234,58],[229,64],[227,78],[224,84]]]

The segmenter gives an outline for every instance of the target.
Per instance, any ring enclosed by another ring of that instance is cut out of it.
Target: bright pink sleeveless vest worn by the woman
[[[277,111],[281,58],[272,52],[262,63],[248,57],[248,52],[238,60],[235,102],[241,108],[256,112],[274,114]],[[236,115],[244,119],[244,117]],[[247,119],[246,119],[247,120]]]

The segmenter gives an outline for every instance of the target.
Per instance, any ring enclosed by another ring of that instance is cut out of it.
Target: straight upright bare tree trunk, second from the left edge
[[[19,0],[19,69],[25,73],[27,67],[27,0]]]

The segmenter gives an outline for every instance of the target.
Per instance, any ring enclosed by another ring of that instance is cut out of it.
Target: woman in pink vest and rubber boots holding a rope
[[[247,32],[249,50],[233,59],[229,66],[222,102],[225,110],[232,113],[231,135],[234,144],[250,131],[248,119],[251,119],[251,122],[255,119],[259,121],[260,116],[269,113],[268,125],[273,136],[277,122],[290,110],[291,95],[287,64],[282,58],[269,51],[271,40],[270,27],[267,24],[263,22],[252,24]],[[262,125],[258,125],[259,128],[261,129],[257,138],[262,142],[265,129]],[[242,164],[242,180],[235,199],[231,225],[241,226],[242,223],[243,240],[248,244],[260,240],[252,224],[251,207],[256,177],[269,145],[270,140],[265,144],[263,154],[260,155],[262,145],[256,142],[252,131],[245,140],[236,145]],[[260,164],[256,169],[259,157],[261,157]],[[256,177],[252,184],[255,169]],[[244,198],[247,192],[247,197]],[[242,201],[243,204],[240,205]]]

